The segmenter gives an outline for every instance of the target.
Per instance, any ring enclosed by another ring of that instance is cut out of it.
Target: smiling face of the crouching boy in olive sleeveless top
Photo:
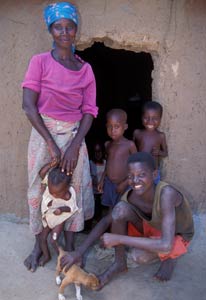
[[[135,162],[128,165],[128,184],[138,195],[145,194],[153,186],[156,171],[146,163]]]

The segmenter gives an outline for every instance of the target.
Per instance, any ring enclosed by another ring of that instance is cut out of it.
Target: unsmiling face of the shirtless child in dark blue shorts
[[[107,119],[107,134],[113,141],[118,141],[127,129],[127,124],[119,116],[113,115]]]

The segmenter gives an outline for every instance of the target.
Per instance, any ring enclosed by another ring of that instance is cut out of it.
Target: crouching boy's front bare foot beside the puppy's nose
[[[114,262],[103,274],[98,276],[100,284],[97,290],[101,290],[114,275],[122,272],[127,272],[127,265],[124,262]]]

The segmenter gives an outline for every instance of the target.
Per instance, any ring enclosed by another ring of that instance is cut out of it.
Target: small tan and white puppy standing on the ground
[[[82,300],[81,295],[81,284],[85,287],[90,288],[92,290],[97,289],[99,286],[99,279],[91,273],[85,272],[78,265],[72,265],[68,271],[65,271],[66,266],[61,269],[60,260],[67,253],[61,247],[58,247],[59,256],[57,258],[57,267],[56,267],[56,283],[60,285],[58,292],[58,299],[65,300],[64,297],[64,289],[70,283],[75,284],[76,288],[76,298],[77,300]],[[64,275],[63,280],[61,280],[60,273]]]

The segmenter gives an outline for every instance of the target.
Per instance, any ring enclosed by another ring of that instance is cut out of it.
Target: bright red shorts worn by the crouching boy
[[[149,225],[146,221],[143,221],[143,234],[138,231],[138,229],[132,225],[128,224],[128,235],[134,237],[150,237],[156,238],[161,236],[161,231]],[[187,253],[187,248],[190,242],[185,241],[181,235],[176,235],[174,238],[174,244],[172,250],[169,253],[158,253],[160,260],[166,260],[168,258],[177,258],[185,253]]]

